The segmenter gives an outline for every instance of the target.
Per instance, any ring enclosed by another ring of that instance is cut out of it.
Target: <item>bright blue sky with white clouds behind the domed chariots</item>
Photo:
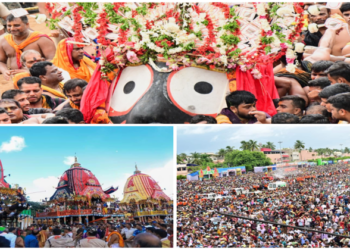
[[[103,188],[119,186],[139,170],[151,175],[166,194],[173,194],[172,127],[1,127],[0,160],[10,184],[27,189],[30,200],[50,197],[58,177],[76,153]],[[39,192],[39,193],[36,193]]]

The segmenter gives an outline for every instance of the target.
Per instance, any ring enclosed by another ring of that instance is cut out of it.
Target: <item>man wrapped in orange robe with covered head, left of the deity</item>
[[[66,70],[71,79],[79,78],[89,82],[96,64],[84,57],[84,47],[70,42],[74,42],[74,38],[67,38],[58,43],[52,63]]]

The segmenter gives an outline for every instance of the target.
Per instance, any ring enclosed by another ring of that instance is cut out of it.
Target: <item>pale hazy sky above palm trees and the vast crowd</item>
[[[296,140],[305,147],[336,148],[340,144],[350,148],[350,128],[342,125],[243,125],[243,126],[178,126],[177,154],[193,152],[217,153],[220,148],[234,146],[239,149],[241,141],[258,143],[271,141],[279,148],[294,147]]]

